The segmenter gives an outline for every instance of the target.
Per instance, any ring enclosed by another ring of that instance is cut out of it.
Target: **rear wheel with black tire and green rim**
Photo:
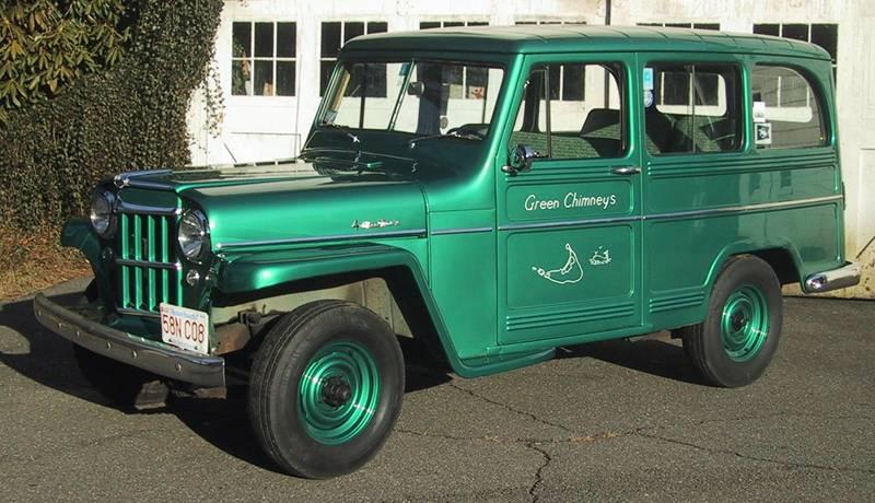
[[[684,350],[710,384],[745,386],[778,349],[782,311],[771,266],[754,256],[733,258],[714,283],[705,320],[681,329]]]

